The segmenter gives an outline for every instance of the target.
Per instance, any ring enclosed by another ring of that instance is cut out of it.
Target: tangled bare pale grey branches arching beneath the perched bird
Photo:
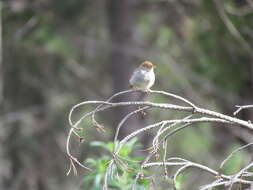
[[[202,171],[208,172],[209,174],[211,174],[215,177],[215,180],[212,183],[200,187],[200,189],[202,189],[202,190],[209,189],[212,187],[222,186],[222,185],[229,186],[229,188],[232,188],[233,184],[236,184],[236,183],[252,185],[253,181],[245,179],[245,177],[250,176],[248,170],[251,167],[253,167],[253,163],[249,163],[247,166],[242,168],[239,172],[237,172],[234,175],[225,175],[225,174],[221,174],[220,171],[216,171],[216,170],[209,168],[208,166],[204,166],[204,165],[201,165],[201,164],[198,164],[195,162],[191,162],[191,161],[185,160],[183,158],[178,158],[178,157],[167,158],[166,157],[167,156],[166,155],[167,139],[170,138],[171,136],[177,134],[179,131],[192,126],[192,124],[207,123],[207,122],[208,123],[223,123],[223,124],[226,124],[231,127],[240,127],[240,128],[245,128],[250,131],[253,131],[253,124],[250,121],[241,120],[236,117],[232,117],[232,116],[221,114],[221,113],[218,113],[215,111],[200,108],[200,107],[196,106],[194,103],[192,103],[191,101],[189,101],[181,96],[178,96],[178,95],[175,95],[172,93],[168,93],[168,92],[164,92],[164,91],[151,90],[149,93],[164,95],[168,98],[173,98],[173,99],[179,100],[180,102],[182,102],[182,105],[168,104],[168,103],[155,103],[155,102],[150,102],[150,101],[112,102],[112,100],[114,98],[116,98],[120,95],[123,95],[126,93],[134,93],[134,92],[135,92],[134,90],[126,90],[126,91],[122,91],[122,92],[114,94],[106,101],[84,101],[84,102],[76,104],[75,106],[72,107],[72,109],[70,110],[70,113],[69,113],[69,117],[68,117],[69,124],[70,124],[71,128],[69,130],[67,143],[66,143],[66,152],[67,152],[67,155],[69,156],[69,159],[70,159],[70,169],[68,171],[68,174],[70,173],[71,170],[73,170],[74,173],[77,172],[75,165],[79,165],[82,168],[91,170],[90,168],[84,166],[80,161],[78,161],[77,157],[72,155],[72,153],[70,152],[70,150],[71,150],[70,139],[71,139],[72,134],[75,134],[79,138],[79,140],[81,140],[81,137],[78,135],[78,132],[77,132],[78,130],[80,130],[79,125],[81,124],[81,122],[83,120],[87,119],[88,117],[91,117],[94,127],[99,132],[101,132],[101,131],[104,131],[105,127],[96,121],[95,115],[98,112],[103,112],[103,111],[106,111],[107,109],[112,109],[115,107],[136,105],[138,107],[138,109],[128,113],[119,122],[119,124],[116,128],[116,132],[115,132],[115,136],[114,136],[114,148],[113,148],[112,158],[111,158],[111,161],[110,161],[110,163],[107,167],[106,173],[105,173],[104,186],[103,186],[104,190],[108,189],[108,185],[107,185],[108,178],[112,174],[113,168],[117,167],[116,161],[120,160],[119,152],[120,152],[122,146],[125,145],[133,137],[136,137],[137,135],[139,135],[145,131],[151,130],[151,129],[157,129],[156,130],[157,133],[153,138],[152,146],[150,148],[151,149],[150,153],[146,156],[146,159],[142,163],[140,163],[141,170],[136,173],[135,184],[137,182],[137,179],[141,176],[142,169],[144,169],[144,168],[150,168],[150,167],[155,167],[155,166],[156,167],[164,167],[164,171],[166,174],[167,167],[180,166],[179,169],[177,169],[177,171],[174,174],[174,178],[173,178],[174,181],[176,181],[176,178],[179,174],[183,173],[188,168],[198,168]],[[95,105],[96,107],[94,108],[93,111],[85,113],[78,121],[73,122],[72,115],[73,115],[74,111],[77,108],[79,108],[81,106],[85,106],[85,105]],[[244,107],[240,107],[240,108],[243,109]],[[121,127],[123,126],[123,124],[125,124],[131,116],[133,116],[139,112],[142,112],[144,110],[147,110],[147,109],[173,110],[173,111],[185,112],[185,113],[188,112],[190,114],[189,114],[189,116],[181,118],[181,119],[168,119],[168,120],[161,120],[158,122],[154,122],[153,124],[144,126],[143,128],[130,133],[129,135],[125,136],[121,141],[118,142],[118,134],[119,134],[119,131],[120,131]],[[237,112],[239,112],[239,111],[237,110]],[[83,129],[81,129],[81,130],[83,130]],[[251,144],[245,145],[245,146],[239,148],[239,150],[246,148],[246,147],[250,146]],[[162,162],[151,162],[150,159],[153,156],[157,155],[159,149],[163,149],[163,151],[164,151],[163,161]],[[232,152],[222,162],[220,168],[222,168],[223,165],[227,162],[227,160],[230,159],[230,157],[233,156],[239,150]],[[124,164],[124,161],[120,161],[120,162],[122,164]],[[132,189],[135,188],[135,184],[132,185]]]

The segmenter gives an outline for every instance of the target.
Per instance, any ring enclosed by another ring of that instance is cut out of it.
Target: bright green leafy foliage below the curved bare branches
[[[131,154],[140,147],[140,144],[136,143],[137,139],[134,138],[128,143],[122,146],[120,152],[115,158],[117,168],[113,168],[114,176],[110,178],[108,186],[114,190],[127,190],[131,188],[131,185],[135,183],[136,171],[140,170],[139,162],[143,159],[143,156],[132,156]],[[90,145],[102,152],[97,158],[88,158],[86,163],[93,168],[93,171],[88,172],[82,180],[82,188],[90,190],[100,190],[103,186],[103,180],[108,164],[111,160],[109,156],[103,154],[109,152],[112,154],[115,144],[113,142],[101,142],[93,141]],[[148,174],[146,170],[143,170],[145,174]],[[149,186],[147,179],[139,179],[136,184],[136,190],[144,190]]]

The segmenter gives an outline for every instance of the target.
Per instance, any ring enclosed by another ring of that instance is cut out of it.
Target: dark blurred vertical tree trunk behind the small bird
[[[134,47],[133,29],[135,20],[135,0],[110,0],[108,2],[108,22],[111,39],[111,52],[109,57],[109,68],[113,82],[113,93],[129,88],[129,78],[133,72],[131,64],[136,62],[133,55],[128,54],[129,47]],[[117,98],[115,101],[140,100],[141,95],[127,94]],[[136,107],[116,108],[113,112],[114,126],[129,112]],[[143,121],[137,116],[129,119],[127,127],[123,126],[120,138],[141,127]]]

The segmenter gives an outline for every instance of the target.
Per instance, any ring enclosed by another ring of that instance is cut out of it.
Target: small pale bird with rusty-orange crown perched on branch
[[[143,90],[144,92],[149,92],[150,88],[155,83],[155,73],[154,68],[156,68],[150,61],[144,61],[137,69],[134,70],[129,83],[133,89]]]

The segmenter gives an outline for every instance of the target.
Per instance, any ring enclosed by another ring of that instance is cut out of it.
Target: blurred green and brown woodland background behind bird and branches
[[[8,0],[0,5],[0,189],[85,189],[81,181],[87,171],[66,177],[68,112],[78,102],[105,100],[128,89],[132,71],[144,60],[157,66],[155,90],[229,115],[237,104],[253,104],[252,0]],[[139,98],[134,93],[117,101]],[[158,95],[147,99],[175,103]],[[74,118],[91,108],[79,109]],[[131,109],[99,114],[105,133],[84,122],[85,142],[77,145],[73,139],[72,152],[80,160],[101,156],[89,142],[112,140],[117,122]],[[181,116],[152,110],[133,117],[120,135]],[[238,117],[252,120],[253,112]],[[144,147],[149,136],[140,137]],[[251,141],[246,130],[198,125],[173,137],[168,154],[215,167]],[[236,155],[226,172],[238,171],[252,152]],[[201,173],[190,174],[182,189],[210,182]]]

